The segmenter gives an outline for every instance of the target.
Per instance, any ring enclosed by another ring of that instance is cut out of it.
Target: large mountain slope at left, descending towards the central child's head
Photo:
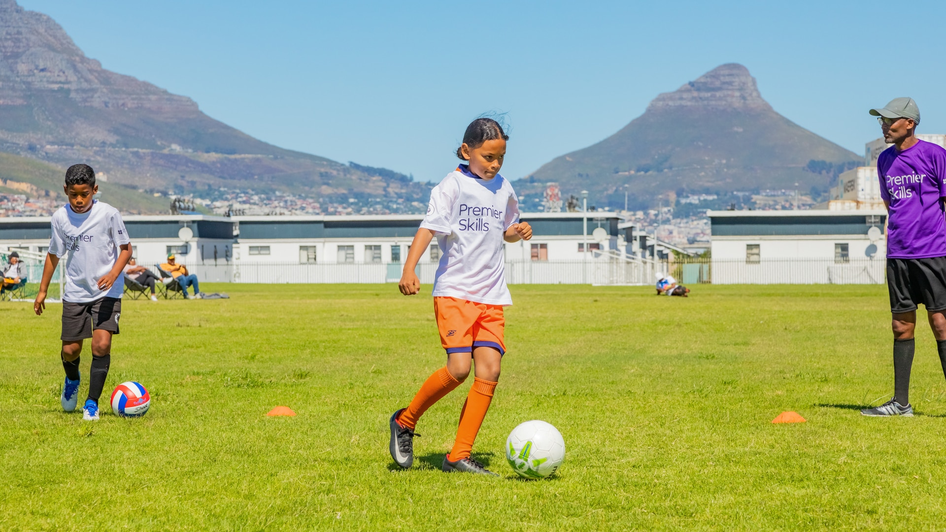
[[[429,195],[407,176],[386,178],[391,170],[272,146],[190,98],[105,70],[53,19],[15,0],[0,0],[0,151],[57,168],[84,162],[142,192],[249,188],[424,204]]]

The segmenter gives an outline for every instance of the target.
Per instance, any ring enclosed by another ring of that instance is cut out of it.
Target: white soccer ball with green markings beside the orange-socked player
[[[565,440],[550,423],[526,421],[506,438],[506,460],[521,477],[545,478],[565,460]]]

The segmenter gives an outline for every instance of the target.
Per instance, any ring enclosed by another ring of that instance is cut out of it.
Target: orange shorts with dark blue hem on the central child
[[[472,353],[474,347],[493,347],[506,353],[502,328],[502,306],[474,303],[456,297],[434,297],[440,343],[450,353]]]

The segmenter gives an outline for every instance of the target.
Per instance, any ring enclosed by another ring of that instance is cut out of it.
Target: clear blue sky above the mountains
[[[867,109],[946,133],[946,3],[20,0],[103,66],[245,133],[439,181],[466,124],[504,112],[503,174],[591,145],[725,62],[776,111],[861,153]]]

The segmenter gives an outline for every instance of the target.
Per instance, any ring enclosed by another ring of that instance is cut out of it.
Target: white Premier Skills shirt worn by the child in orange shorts
[[[513,186],[501,175],[490,180],[460,165],[430,191],[420,226],[436,232],[440,265],[433,295],[487,305],[512,305],[506,288],[502,235],[519,221]]]

